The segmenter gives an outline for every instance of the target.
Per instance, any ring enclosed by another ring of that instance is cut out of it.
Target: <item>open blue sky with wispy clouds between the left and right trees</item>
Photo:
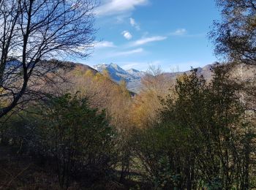
[[[208,39],[220,15],[214,0],[102,0],[94,49],[83,64],[185,71],[217,61]]]

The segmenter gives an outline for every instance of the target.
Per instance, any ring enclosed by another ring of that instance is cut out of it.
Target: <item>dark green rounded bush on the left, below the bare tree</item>
[[[72,179],[105,180],[112,173],[116,132],[105,111],[92,109],[88,99],[70,94],[37,107],[37,113],[13,118],[4,137],[20,151],[52,165],[61,187],[68,187]]]

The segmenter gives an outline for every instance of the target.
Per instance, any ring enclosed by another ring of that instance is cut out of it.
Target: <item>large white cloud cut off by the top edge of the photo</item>
[[[147,4],[148,0],[109,0],[105,1],[99,6],[95,14],[98,16],[102,15],[117,15],[120,13],[128,12],[135,7]]]

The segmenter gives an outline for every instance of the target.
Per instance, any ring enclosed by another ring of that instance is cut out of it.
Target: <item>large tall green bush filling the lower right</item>
[[[135,150],[157,189],[249,189],[255,129],[246,119],[227,66],[206,83],[196,71],[177,81],[177,96],[162,99],[159,123],[137,134]],[[252,122],[252,120],[250,120]]]

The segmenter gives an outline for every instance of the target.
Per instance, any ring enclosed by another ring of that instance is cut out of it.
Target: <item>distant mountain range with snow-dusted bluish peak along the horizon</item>
[[[47,64],[48,63],[48,64]],[[131,92],[134,92],[138,94],[142,88],[141,79],[143,76],[146,75],[146,72],[139,71],[137,69],[122,69],[121,66],[118,66],[117,64],[97,64],[94,66],[88,66],[86,64],[79,64],[79,63],[73,63],[69,61],[58,61],[55,59],[52,59],[50,61],[42,61],[42,64],[47,64],[46,66],[51,66],[53,64],[53,68],[55,68],[56,64],[58,64],[61,67],[67,67],[70,69],[77,69],[79,72],[86,72],[87,70],[91,70],[92,73],[96,74],[97,72],[104,72],[105,70],[108,71],[108,75],[110,76],[110,79],[113,80],[115,83],[120,83],[122,80],[124,80],[127,83],[127,89]],[[197,75],[203,75],[203,77],[206,80],[211,80],[212,72],[211,67],[214,64],[208,64],[203,67],[197,67]],[[7,71],[12,69],[18,69],[21,66],[21,62],[18,60],[11,60],[7,62]],[[41,66],[37,66],[39,68],[36,69],[40,72],[42,72]],[[40,70],[41,69],[41,70]],[[6,71],[6,72],[7,72]],[[190,71],[185,72],[163,72],[162,75],[165,77],[169,77],[171,79],[176,79],[178,75],[182,75],[183,73],[189,74]],[[235,69],[232,71],[232,76],[234,78],[237,77],[244,77],[244,80],[252,80],[252,78],[255,77],[255,69],[249,68],[248,66],[236,66]]]

